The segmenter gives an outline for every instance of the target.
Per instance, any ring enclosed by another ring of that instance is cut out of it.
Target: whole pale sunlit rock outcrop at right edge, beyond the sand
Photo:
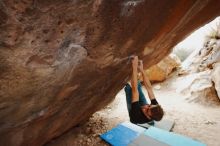
[[[184,62],[185,74],[179,79],[177,91],[194,94],[203,103],[220,100],[220,40],[210,39],[200,51],[193,52]]]

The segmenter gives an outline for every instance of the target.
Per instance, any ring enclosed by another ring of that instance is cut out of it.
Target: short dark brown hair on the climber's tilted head
[[[155,121],[160,121],[163,118],[164,112],[160,105],[150,107],[151,118]]]

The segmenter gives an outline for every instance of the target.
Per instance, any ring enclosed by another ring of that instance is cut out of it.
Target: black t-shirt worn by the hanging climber
[[[152,105],[157,105],[158,102],[156,99],[151,100]],[[139,105],[139,101],[133,102],[131,104],[131,110],[129,112],[130,121],[134,124],[143,124],[152,121],[148,119],[143,111],[141,110],[141,106]]]

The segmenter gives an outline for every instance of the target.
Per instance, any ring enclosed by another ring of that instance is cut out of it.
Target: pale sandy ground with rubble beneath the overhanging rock
[[[204,103],[200,102],[204,99],[177,93],[176,78],[174,75],[165,82],[154,85],[157,100],[165,111],[164,118],[175,121],[174,132],[204,142],[208,146],[220,146],[220,102]],[[146,93],[145,90],[144,92]],[[99,135],[128,120],[125,93],[122,89],[110,105],[95,113],[88,122],[71,129],[47,146],[108,146]]]

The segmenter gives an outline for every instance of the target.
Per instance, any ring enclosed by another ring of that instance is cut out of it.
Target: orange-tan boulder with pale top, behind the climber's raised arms
[[[166,80],[166,78],[178,68],[181,64],[180,59],[175,54],[170,54],[165,57],[156,65],[151,66],[145,71],[150,81],[161,82]]]

